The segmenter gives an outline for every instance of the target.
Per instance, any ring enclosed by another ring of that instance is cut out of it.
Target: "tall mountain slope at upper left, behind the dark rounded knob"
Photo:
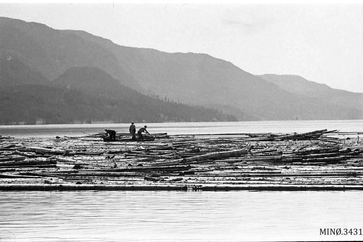
[[[70,67],[94,66],[132,84],[132,77],[112,53],[76,34],[5,17],[0,17],[0,33],[2,58],[17,57],[48,79],[57,78]]]

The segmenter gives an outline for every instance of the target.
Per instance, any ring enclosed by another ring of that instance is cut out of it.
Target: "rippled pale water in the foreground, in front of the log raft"
[[[361,191],[0,192],[0,241],[337,241]]]

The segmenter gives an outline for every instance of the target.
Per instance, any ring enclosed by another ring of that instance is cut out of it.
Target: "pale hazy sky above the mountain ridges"
[[[0,16],[363,92],[363,5],[0,4]]]

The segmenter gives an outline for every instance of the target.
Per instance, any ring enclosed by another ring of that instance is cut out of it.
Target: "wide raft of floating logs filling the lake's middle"
[[[362,190],[361,133],[1,139],[0,190]]]

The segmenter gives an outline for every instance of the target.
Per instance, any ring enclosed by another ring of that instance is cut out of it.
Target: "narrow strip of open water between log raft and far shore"
[[[136,124],[136,128],[145,124]],[[363,120],[297,120],[249,122],[178,122],[147,124],[150,133],[178,134],[240,134],[240,133],[305,133],[314,130],[338,129],[340,132],[361,132]],[[62,125],[0,125],[0,135],[16,138],[83,136],[105,128],[129,133],[130,124],[62,124]]]

